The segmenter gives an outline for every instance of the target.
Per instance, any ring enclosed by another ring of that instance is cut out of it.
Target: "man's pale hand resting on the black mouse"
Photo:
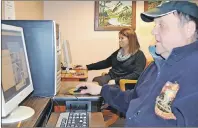
[[[86,94],[89,93],[91,95],[99,95],[102,89],[102,86],[96,84],[96,83],[92,83],[92,82],[85,82],[85,83],[80,83],[76,86],[76,89],[86,86],[87,89],[82,90],[80,93],[81,94]]]

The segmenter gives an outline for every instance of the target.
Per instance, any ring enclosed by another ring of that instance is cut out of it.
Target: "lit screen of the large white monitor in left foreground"
[[[2,89],[5,102],[30,84],[22,33],[2,31]]]

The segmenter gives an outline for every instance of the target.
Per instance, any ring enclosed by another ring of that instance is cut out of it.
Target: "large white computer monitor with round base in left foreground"
[[[1,121],[4,124],[25,120],[34,110],[18,106],[33,91],[23,29],[2,24],[1,39]]]

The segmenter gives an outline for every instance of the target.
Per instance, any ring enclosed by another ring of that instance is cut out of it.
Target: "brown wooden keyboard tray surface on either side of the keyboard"
[[[60,113],[52,113],[46,127],[55,127]],[[103,115],[101,112],[90,113],[89,127],[105,127]]]

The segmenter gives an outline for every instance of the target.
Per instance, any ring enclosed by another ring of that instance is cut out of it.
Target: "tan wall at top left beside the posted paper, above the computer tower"
[[[43,20],[43,1],[14,1],[17,20]],[[2,2],[2,19],[4,19],[4,1]]]

